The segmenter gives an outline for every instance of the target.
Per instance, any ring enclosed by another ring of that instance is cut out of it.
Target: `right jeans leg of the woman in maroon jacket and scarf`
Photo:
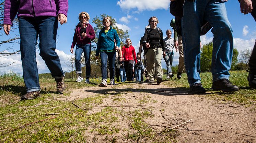
[[[91,50],[92,50],[92,44],[85,44],[83,46],[83,53],[84,53],[84,59],[85,59],[85,70],[86,70],[86,77],[91,77]]]

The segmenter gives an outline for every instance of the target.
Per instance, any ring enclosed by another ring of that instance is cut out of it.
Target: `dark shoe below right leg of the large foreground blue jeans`
[[[233,85],[228,79],[222,78],[218,81],[212,83],[211,89],[213,90],[221,90],[223,92],[233,92],[238,91],[239,87]]]

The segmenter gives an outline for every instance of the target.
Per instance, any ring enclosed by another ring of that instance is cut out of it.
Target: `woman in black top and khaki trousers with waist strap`
[[[163,81],[163,70],[161,65],[162,52],[165,56],[163,31],[156,27],[159,23],[156,17],[149,18],[149,26],[147,28],[144,37],[143,44],[146,45],[145,51],[147,57],[147,71],[149,75],[149,83],[154,83],[154,71],[155,78],[158,84]]]

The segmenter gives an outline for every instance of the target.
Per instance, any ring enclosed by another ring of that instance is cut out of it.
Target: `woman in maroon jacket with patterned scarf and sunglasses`
[[[75,47],[75,71],[78,74],[76,82],[83,81],[82,68],[81,68],[81,56],[84,53],[85,67],[86,67],[86,80],[85,83],[89,83],[89,77],[91,76],[91,50],[92,44],[91,40],[95,39],[95,33],[92,26],[89,24],[90,15],[87,12],[79,13],[79,23],[75,27],[75,33],[73,37],[73,42],[71,45],[70,52],[74,53]]]

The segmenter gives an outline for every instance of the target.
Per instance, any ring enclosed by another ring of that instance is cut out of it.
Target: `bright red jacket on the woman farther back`
[[[137,63],[135,48],[132,45],[129,47],[127,45],[123,46],[122,54],[125,61],[135,60],[135,63]]]

